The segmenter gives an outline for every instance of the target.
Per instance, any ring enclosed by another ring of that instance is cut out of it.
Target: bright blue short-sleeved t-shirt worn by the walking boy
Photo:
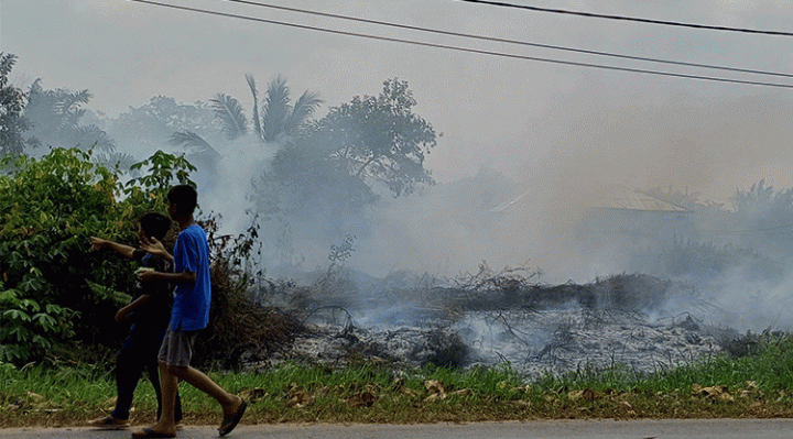
[[[209,281],[209,243],[206,232],[192,224],[180,232],[174,245],[174,273],[195,272],[195,284],[176,284],[171,312],[171,328],[194,331],[209,322],[211,284]]]

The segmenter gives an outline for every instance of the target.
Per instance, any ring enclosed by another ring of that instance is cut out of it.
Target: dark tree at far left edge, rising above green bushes
[[[15,55],[0,52],[0,155],[22,154],[25,145],[22,133],[30,128],[22,116],[25,96],[8,79],[15,63]]]

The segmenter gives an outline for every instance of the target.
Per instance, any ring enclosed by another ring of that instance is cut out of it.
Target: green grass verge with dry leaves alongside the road
[[[454,370],[343,370],[282,364],[264,371],[213,372],[248,399],[243,422],[435,422],[563,418],[793,416],[793,336],[767,337],[752,355],[713,355],[653,374],[627,366],[582,367],[524,381],[508,364]],[[219,406],[180,386],[187,424],[216,424]],[[111,372],[88,364],[0,364],[0,426],[85,425],[112,409]],[[133,421],[153,421],[156,399],[142,381]]]

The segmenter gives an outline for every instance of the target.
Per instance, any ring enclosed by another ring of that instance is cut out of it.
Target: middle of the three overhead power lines
[[[642,56],[622,55],[622,54],[615,54],[615,53],[608,53],[608,52],[587,51],[587,50],[575,48],[575,47],[556,46],[556,45],[551,45],[551,44],[530,43],[530,42],[524,42],[524,41],[499,39],[499,37],[486,36],[486,35],[465,34],[465,33],[460,33],[460,32],[441,31],[441,30],[436,30],[436,29],[421,28],[421,26],[414,26],[414,25],[409,25],[409,24],[399,24],[399,23],[391,23],[391,22],[377,21],[377,20],[370,20],[370,19],[361,19],[361,18],[348,17],[348,15],[341,15],[341,14],[335,14],[335,13],[309,11],[309,10],[304,10],[304,9],[298,9],[298,8],[290,8],[290,7],[282,7],[282,6],[276,6],[276,4],[260,3],[260,2],[256,2],[256,1],[249,1],[249,0],[221,0],[221,1],[256,6],[256,7],[260,7],[260,8],[276,9],[276,10],[281,10],[281,11],[297,12],[297,13],[303,13],[303,14],[318,15],[318,17],[325,17],[325,18],[356,21],[356,22],[360,22],[360,23],[377,24],[377,25],[404,29],[404,30],[410,30],[410,31],[428,32],[428,33],[434,33],[434,34],[439,34],[439,35],[490,41],[490,42],[496,42],[496,43],[517,44],[517,45],[531,46],[531,47],[551,48],[551,50],[555,50],[555,51],[583,53],[583,54],[587,54],[587,55],[609,56],[609,57],[621,58],[621,59],[672,64],[672,65],[686,66],[686,67],[700,67],[700,68],[710,68],[710,69],[719,69],[719,70],[728,70],[728,72],[749,73],[749,74],[756,74],[756,75],[769,75],[769,76],[780,76],[780,77],[793,78],[793,74],[767,72],[767,70],[753,70],[753,69],[748,69],[748,68],[737,68],[737,67],[726,67],[726,66],[714,66],[714,65],[708,65],[708,64],[686,63],[686,62],[659,59],[659,58],[649,58],[649,57],[642,57]]]

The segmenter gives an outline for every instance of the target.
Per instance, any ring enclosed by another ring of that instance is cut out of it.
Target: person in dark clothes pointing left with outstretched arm
[[[141,246],[148,245],[152,239],[162,240],[171,229],[171,219],[162,213],[149,212],[139,221],[138,238]],[[139,272],[155,271],[173,272],[173,263],[162,256],[148,253],[140,248],[120,244],[93,237],[91,249],[95,251],[111,250],[115,253],[140,263]],[[139,277],[134,285],[132,301],[116,312],[119,323],[131,322],[129,333],[121,345],[116,362],[116,388],[118,398],[116,408],[110,415],[91,420],[89,424],[105,429],[123,429],[130,425],[130,408],[135,387],[143,370],[154,386],[157,397],[157,418],[162,414],[162,392],[157,352],[162,344],[165,329],[171,319],[173,304],[172,286],[167,282],[142,282]],[[182,405],[176,399],[174,416],[182,419]]]

